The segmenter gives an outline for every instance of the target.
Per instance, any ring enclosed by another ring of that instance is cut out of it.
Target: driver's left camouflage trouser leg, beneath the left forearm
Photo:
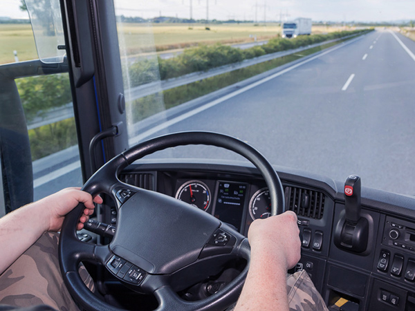
[[[46,232],[0,275],[0,310],[8,310],[2,309],[4,305],[79,310],[60,274],[58,243],[59,234]],[[94,291],[93,280],[83,265],[79,271],[82,281]]]

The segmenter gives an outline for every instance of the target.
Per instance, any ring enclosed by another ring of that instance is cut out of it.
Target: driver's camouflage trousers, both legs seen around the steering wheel
[[[12,306],[24,307],[19,311],[79,310],[60,274],[58,243],[59,234],[46,232],[0,275],[1,311],[15,310]],[[94,292],[93,279],[83,265],[79,272]],[[328,311],[305,270],[287,277],[287,293],[290,311]]]

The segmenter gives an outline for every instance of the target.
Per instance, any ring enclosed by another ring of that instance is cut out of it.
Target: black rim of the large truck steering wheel
[[[250,162],[259,169],[270,190],[271,215],[282,214],[285,211],[282,183],[268,160],[266,160],[266,158],[264,158],[257,150],[250,147],[248,144],[241,142],[241,140],[237,140],[228,135],[212,132],[174,133],[137,144],[127,151],[124,151],[124,153],[121,153],[119,156],[116,156],[99,169],[85,183],[82,190],[89,192],[93,196],[102,193],[111,195],[114,191],[114,185],[120,185],[120,180],[118,180],[117,177],[118,174],[129,164],[156,151],[167,149],[169,147],[191,144],[205,144],[222,147],[239,153],[241,156],[250,160]],[[64,282],[74,299],[86,308],[86,310],[119,310],[100,301],[100,299],[89,292],[80,280],[80,276],[77,274],[77,265],[81,260],[99,261],[98,258],[100,258],[100,253],[107,252],[105,247],[99,245],[84,245],[86,243],[80,244],[80,242],[77,241],[75,227],[82,214],[82,210],[83,205],[79,205],[73,209],[73,211],[66,216],[64,224],[62,225],[61,238],[59,241],[59,263],[61,265]],[[249,244],[246,238],[238,238],[238,241],[239,240],[241,240],[241,243],[237,245],[237,252],[239,252],[238,256],[245,258],[248,264],[243,272],[226,286],[226,293],[221,293],[224,291],[222,290],[221,292],[208,297],[208,299],[203,299],[201,303],[187,303],[185,301],[179,301],[181,299],[179,299],[178,296],[175,297],[172,293],[164,294],[163,291],[168,289],[163,287],[158,289],[158,291],[160,291],[159,293],[155,292],[158,294],[158,298],[160,297],[160,306],[157,310],[177,310],[178,305],[181,306],[180,308],[187,308],[188,306],[188,310],[213,310],[219,306],[228,304],[229,299],[232,299],[232,297],[239,294],[248,272],[250,260]],[[82,246],[82,250],[78,251],[76,248],[80,246]],[[163,299],[163,295],[167,296],[167,299]],[[169,305],[172,305],[172,307],[169,307]]]

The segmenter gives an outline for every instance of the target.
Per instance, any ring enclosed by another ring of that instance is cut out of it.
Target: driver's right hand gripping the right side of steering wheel
[[[301,258],[297,215],[286,211],[278,216],[255,220],[249,228],[248,241],[254,255],[273,258],[275,263],[291,269]],[[273,263],[269,263],[273,264]]]

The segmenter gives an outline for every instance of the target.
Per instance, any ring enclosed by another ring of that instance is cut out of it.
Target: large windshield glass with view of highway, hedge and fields
[[[115,4],[131,144],[216,131],[275,165],[415,193],[414,1]],[[282,39],[297,17],[299,36]],[[155,157],[239,160],[208,147]]]

